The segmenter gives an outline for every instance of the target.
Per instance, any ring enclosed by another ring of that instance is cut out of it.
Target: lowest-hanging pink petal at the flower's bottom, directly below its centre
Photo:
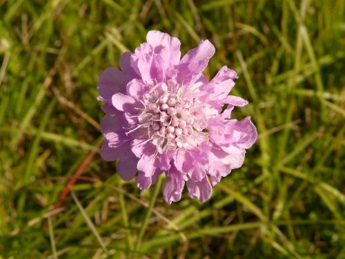
[[[181,199],[184,190],[184,174],[176,169],[174,165],[166,173],[166,182],[163,186],[163,197],[168,204]]]

